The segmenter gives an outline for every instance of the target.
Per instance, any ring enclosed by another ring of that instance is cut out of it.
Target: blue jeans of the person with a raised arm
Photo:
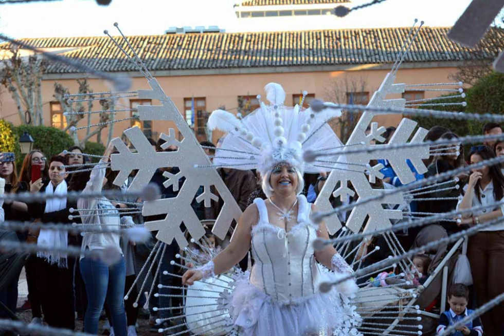
[[[98,321],[105,303],[109,307],[112,325],[116,335],[126,334],[126,314],[124,312],[124,282],[126,269],[124,257],[114,265],[107,266],[99,258],[82,258],[80,269],[87,293],[87,310],[84,318],[84,331],[96,334]],[[124,333],[120,333],[123,330]]]

